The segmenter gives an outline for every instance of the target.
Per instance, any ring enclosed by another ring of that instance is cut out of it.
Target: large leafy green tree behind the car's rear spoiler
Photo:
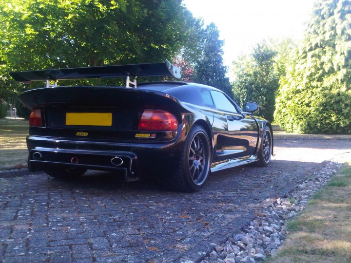
[[[160,62],[195,23],[181,0],[0,0],[0,97],[26,89],[8,71]],[[116,80],[62,81],[116,85]],[[31,88],[39,84],[32,84]]]

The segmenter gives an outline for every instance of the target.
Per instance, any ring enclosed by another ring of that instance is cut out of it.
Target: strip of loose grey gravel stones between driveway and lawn
[[[257,212],[256,218],[243,231],[233,233],[224,244],[212,244],[215,250],[201,263],[259,263],[274,255],[286,239],[287,222],[305,208],[311,195],[325,186],[350,158],[350,152],[340,154],[324,169],[307,176],[289,194]]]

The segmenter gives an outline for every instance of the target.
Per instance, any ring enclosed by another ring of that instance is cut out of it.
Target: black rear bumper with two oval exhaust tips
[[[160,165],[170,167],[178,163],[182,149],[179,142],[113,143],[32,135],[27,136],[27,146],[30,171],[47,170],[53,166],[122,170],[126,178],[137,177],[141,171],[157,171]]]

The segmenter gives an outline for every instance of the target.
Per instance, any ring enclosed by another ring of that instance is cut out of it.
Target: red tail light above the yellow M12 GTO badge
[[[168,112],[144,110],[138,129],[140,131],[175,131],[178,129],[178,121],[173,114]]]

